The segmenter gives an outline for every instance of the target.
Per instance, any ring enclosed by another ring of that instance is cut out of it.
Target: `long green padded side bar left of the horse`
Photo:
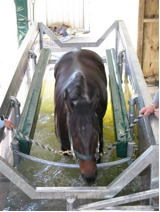
[[[21,114],[18,131],[24,135],[29,136],[31,133],[34,116],[36,113],[39,95],[42,87],[43,76],[48,64],[51,51],[49,49],[42,49],[38,64],[31,82],[31,86],[26,98],[26,102]],[[29,154],[30,145],[25,140],[20,140],[20,150],[23,153]]]

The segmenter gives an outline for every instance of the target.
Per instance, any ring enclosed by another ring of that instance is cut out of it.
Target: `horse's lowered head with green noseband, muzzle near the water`
[[[95,112],[97,101],[98,97],[92,103],[83,98],[74,102],[68,92],[65,93],[70,143],[75,156],[79,158],[81,174],[87,182],[93,182],[97,173],[95,154],[100,132]]]

